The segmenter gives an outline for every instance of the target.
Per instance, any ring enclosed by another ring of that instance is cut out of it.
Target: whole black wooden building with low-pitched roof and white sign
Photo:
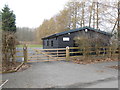
[[[65,48],[67,46],[69,47],[75,47],[75,40],[74,38],[76,36],[80,35],[89,35],[90,38],[95,38],[98,35],[100,37],[103,37],[106,39],[106,41],[109,42],[111,34],[97,30],[91,27],[82,27],[77,29],[72,29],[68,31],[64,31],[61,33],[56,33],[47,37],[42,38],[43,40],[43,48],[49,49],[49,48]],[[106,42],[106,43],[108,43]]]

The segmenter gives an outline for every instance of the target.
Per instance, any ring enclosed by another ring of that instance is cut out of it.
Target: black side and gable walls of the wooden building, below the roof
[[[75,40],[74,38],[76,36],[88,36],[89,38],[96,38],[96,37],[102,37],[103,40],[106,39],[106,43],[109,42],[110,37],[92,30],[88,30],[85,32],[85,30],[77,31],[77,32],[72,32],[72,33],[67,33],[61,36],[58,36],[57,38],[50,38],[50,39],[45,39],[43,40],[44,43],[44,48],[65,48],[67,46],[69,47],[74,47],[75,46]],[[69,37],[69,41],[63,41],[63,37]],[[49,41],[49,46],[47,46],[47,41]],[[53,46],[51,46],[51,41],[53,41]],[[108,41],[108,42],[107,42]]]

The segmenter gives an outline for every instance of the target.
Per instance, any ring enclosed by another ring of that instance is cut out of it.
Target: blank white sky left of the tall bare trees
[[[44,19],[50,19],[64,8],[69,0],[0,0],[0,10],[5,4],[14,11],[17,27],[35,28]]]

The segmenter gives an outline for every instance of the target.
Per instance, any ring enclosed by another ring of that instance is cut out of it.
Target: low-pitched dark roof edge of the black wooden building
[[[67,33],[76,32],[76,31],[80,31],[80,30],[84,30],[84,29],[89,29],[89,30],[92,30],[92,31],[95,31],[95,32],[98,32],[98,33],[102,33],[102,34],[108,35],[108,36],[111,36],[111,35],[112,35],[112,34],[110,34],[110,33],[108,33],[108,32],[101,31],[100,29],[94,29],[94,28],[85,26],[85,27],[81,27],[81,28],[71,29],[71,30],[68,30],[68,31],[64,31],[64,32],[52,34],[52,35],[47,36],[47,37],[44,37],[44,38],[42,38],[42,39],[48,39],[48,38],[52,38],[52,37],[57,37],[57,36],[60,36],[60,35],[64,35],[64,34],[67,34]]]

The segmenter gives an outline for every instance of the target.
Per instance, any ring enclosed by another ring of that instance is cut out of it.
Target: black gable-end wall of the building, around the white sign
[[[106,40],[106,43],[109,43],[110,37],[92,30],[88,30],[87,32],[85,32],[85,30],[82,31],[77,31],[77,32],[73,32],[70,34],[65,34],[65,35],[61,35],[58,37],[58,47],[59,48],[65,48],[67,46],[69,47],[75,47],[75,37],[76,36],[88,36],[89,38],[96,38],[96,37],[100,37],[103,38],[103,40]],[[63,37],[69,37],[70,41],[63,41]]]

